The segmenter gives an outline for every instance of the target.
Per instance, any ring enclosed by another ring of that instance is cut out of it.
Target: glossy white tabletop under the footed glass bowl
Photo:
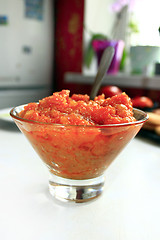
[[[158,145],[135,138],[106,171],[101,197],[60,204],[48,192],[42,161],[6,120],[0,119],[0,239],[160,239]]]

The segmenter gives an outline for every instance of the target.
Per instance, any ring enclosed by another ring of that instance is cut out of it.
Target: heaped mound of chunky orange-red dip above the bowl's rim
[[[39,103],[29,103],[20,117],[69,125],[106,125],[135,121],[132,102],[125,93],[107,99],[102,94],[94,101],[88,95],[74,94],[70,97],[69,94],[69,90],[62,90]]]

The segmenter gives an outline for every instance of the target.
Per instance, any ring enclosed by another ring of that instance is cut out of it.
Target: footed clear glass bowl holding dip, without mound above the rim
[[[105,170],[148,119],[145,112],[134,109],[136,122],[71,126],[20,118],[23,108],[13,108],[10,115],[48,167],[51,195],[74,202],[102,193]]]

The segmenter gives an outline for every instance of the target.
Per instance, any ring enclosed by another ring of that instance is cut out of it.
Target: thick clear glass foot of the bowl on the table
[[[51,174],[49,191],[61,201],[84,203],[101,195],[104,187],[104,176],[87,180],[72,180]]]

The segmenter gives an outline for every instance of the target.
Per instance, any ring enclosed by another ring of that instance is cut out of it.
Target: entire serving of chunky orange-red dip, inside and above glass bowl
[[[19,116],[35,122],[17,121],[17,125],[52,173],[69,179],[95,178],[136,135],[140,124],[125,93],[107,99],[101,95],[94,101],[69,93],[63,90],[29,103]]]

